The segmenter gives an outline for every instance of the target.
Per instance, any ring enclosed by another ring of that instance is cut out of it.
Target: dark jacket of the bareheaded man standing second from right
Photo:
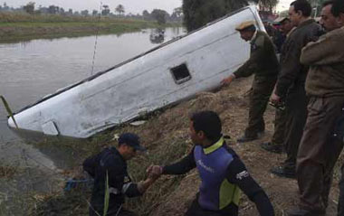
[[[301,64],[301,49],[316,41],[321,33],[320,25],[310,19],[301,23],[287,37],[282,46],[281,72],[276,85],[276,94],[284,97],[293,85],[304,85],[309,67]]]

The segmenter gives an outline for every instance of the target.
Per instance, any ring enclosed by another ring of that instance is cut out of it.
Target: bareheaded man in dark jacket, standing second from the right
[[[301,64],[301,49],[318,39],[320,25],[311,19],[311,5],[306,0],[297,0],[289,8],[292,31],[282,47],[281,72],[272,94],[272,103],[285,99],[286,126],[284,146],[287,159],[281,166],[272,167],[272,174],[295,178],[296,156],[300,146],[303,127],[307,118],[308,99],[304,89],[309,67]]]

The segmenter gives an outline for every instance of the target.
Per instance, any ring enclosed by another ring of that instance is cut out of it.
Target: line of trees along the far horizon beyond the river
[[[174,9],[172,14],[164,10],[154,9],[152,12],[144,10],[142,14],[125,14],[124,5],[117,5],[111,10],[109,5],[102,5],[101,10],[83,10],[81,12],[69,9],[64,10],[62,7],[50,5],[42,7],[39,5],[35,8],[34,2],[22,6],[21,8],[11,8],[4,3],[0,5],[0,11],[22,10],[28,14],[62,14],[62,15],[83,15],[83,16],[119,16],[144,19],[147,21],[158,21],[158,23],[167,22],[184,22],[187,31],[193,31],[206,23],[212,22],[217,18],[229,14],[241,7],[254,3],[259,5],[260,10],[270,12],[275,9],[279,0],[183,0],[182,7]],[[313,6],[313,13],[320,14],[320,6],[325,0],[309,0]]]

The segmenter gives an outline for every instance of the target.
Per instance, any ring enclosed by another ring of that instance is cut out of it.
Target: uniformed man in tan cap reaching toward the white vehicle
[[[259,138],[265,130],[263,114],[277,80],[279,62],[272,40],[266,33],[257,30],[253,21],[241,23],[235,30],[239,31],[244,41],[251,43],[250,59],[221,83],[228,85],[234,79],[254,74],[248,127],[244,136],[237,139],[244,143]]]

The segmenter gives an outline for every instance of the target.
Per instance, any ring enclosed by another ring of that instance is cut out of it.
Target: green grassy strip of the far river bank
[[[146,28],[180,26],[167,23],[116,17],[30,15],[0,13],[0,42],[17,42],[40,38],[58,38],[107,33],[137,32]]]

